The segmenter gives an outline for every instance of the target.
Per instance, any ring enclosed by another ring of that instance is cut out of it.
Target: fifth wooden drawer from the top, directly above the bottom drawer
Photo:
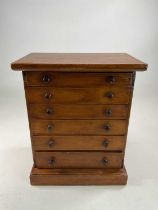
[[[33,136],[34,150],[124,151],[125,136]]]

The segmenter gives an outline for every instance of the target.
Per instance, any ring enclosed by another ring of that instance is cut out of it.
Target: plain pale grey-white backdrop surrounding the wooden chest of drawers
[[[0,209],[158,209],[158,1],[0,0]],[[30,52],[128,52],[137,73],[126,187],[31,187],[31,145],[21,72]]]

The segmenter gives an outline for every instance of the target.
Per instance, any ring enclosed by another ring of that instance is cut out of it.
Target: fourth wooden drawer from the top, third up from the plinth
[[[34,135],[124,135],[126,120],[32,120]]]

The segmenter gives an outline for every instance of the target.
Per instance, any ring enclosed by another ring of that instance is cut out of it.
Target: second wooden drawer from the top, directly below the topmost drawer
[[[27,87],[29,103],[49,104],[128,104],[132,88],[52,88]]]

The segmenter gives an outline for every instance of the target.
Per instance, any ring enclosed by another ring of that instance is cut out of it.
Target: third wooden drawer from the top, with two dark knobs
[[[30,104],[35,119],[126,119],[128,105]]]

